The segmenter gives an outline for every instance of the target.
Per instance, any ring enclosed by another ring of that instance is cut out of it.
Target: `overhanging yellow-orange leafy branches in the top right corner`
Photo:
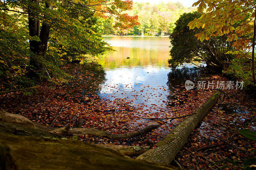
[[[196,34],[200,41],[208,40],[210,37],[227,36],[227,41],[235,41],[234,51],[236,57],[246,56],[252,52],[252,79],[255,84],[255,1],[235,0],[200,0],[193,4],[198,6],[198,12],[205,12],[199,18],[195,18],[188,26],[203,28],[201,33]],[[236,27],[235,27],[235,26]]]

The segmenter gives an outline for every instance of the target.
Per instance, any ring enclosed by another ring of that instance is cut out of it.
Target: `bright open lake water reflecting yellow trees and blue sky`
[[[183,85],[188,79],[184,75],[195,73],[181,68],[180,75],[173,74],[167,63],[169,37],[104,37],[104,40],[116,51],[107,51],[95,58],[106,72],[98,95],[104,99],[121,98],[132,104],[142,104],[144,114],[158,112],[159,108],[161,112],[168,112],[166,102],[172,98],[172,87]]]

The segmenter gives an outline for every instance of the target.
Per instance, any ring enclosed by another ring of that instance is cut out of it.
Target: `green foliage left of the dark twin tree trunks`
[[[33,83],[26,77],[29,51],[25,21],[18,14],[0,12],[0,90]]]

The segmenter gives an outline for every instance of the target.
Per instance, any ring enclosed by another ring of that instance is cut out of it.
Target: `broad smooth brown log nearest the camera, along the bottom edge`
[[[29,137],[0,132],[0,169],[169,169],[152,162],[134,160],[107,148],[77,140]]]

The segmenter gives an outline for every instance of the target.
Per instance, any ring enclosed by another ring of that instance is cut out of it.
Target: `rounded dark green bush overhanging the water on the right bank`
[[[170,35],[172,58],[168,60],[168,63],[171,67],[177,67],[183,63],[199,62],[221,70],[223,64],[233,58],[232,54],[226,54],[232,47],[229,42],[226,42],[225,36],[200,41],[196,38],[196,34],[202,32],[202,29],[189,30],[188,23],[200,16],[198,12],[184,13],[175,22],[176,27]]]

